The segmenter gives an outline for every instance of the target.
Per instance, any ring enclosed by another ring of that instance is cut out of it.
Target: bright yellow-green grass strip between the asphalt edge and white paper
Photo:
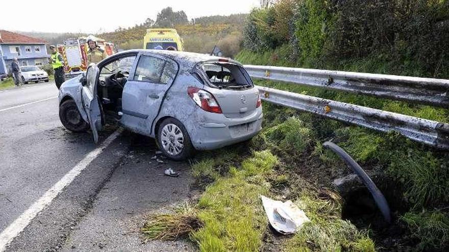
[[[205,226],[192,234],[201,251],[259,250],[267,225],[259,195],[269,193],[265,176],[277,163],[269,151],[254,152],[206,188],[197,205]]]

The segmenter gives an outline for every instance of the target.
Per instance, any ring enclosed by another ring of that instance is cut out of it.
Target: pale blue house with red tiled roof
[[[48,53],[42,39],[0,30],[0,74],[11,73],[11,62],[17,57],[20,66],[48,64]]]

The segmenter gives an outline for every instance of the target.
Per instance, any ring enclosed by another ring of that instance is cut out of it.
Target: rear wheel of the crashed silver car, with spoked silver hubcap
[[[189,133],[184,125],[174,118],[167,118],[161,123],[157,141],[162,153],[173,160],[185,160],[194,152]]]

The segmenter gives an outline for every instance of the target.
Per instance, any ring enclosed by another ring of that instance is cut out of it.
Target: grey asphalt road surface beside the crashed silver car
[[[89,132],[62,126],[57,94],[54,83],[0,90],[0,251],[2,235],[98,149]],[[109,127],[100,141],[116,130]],[[146,215],[171,211],[192,197],[188,165],[158,163],[151,159],[155,151],[153,139],[119,134],[29,219],[6,250],[193,250],[186,242],[142,242]],[[181,176],[163,176],[167,167]]]

